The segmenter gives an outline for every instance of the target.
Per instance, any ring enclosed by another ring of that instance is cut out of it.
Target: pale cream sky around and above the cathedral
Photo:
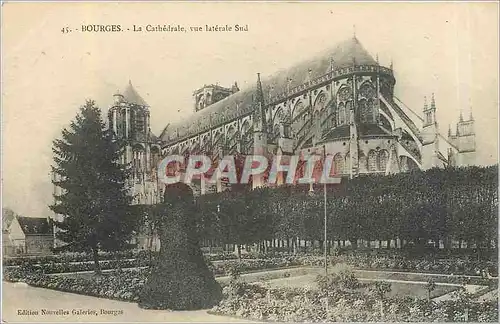
[[[477,160],[498,161],[498,4],[7,3],[2,8],[2,204],[50,215],[52,141],[86,99],[107,111],[129,80],[159,135],[193,112],[204,84],[240,88],[356,34],[395,70],[395,94],[422,115],[435,93],[446,135],[476,121]],[[248,32],[62,33],[86,24],[248,25]]]

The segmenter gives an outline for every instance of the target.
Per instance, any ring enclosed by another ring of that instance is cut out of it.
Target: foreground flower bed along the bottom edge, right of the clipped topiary
[[[428,302],[413,298],[381,299],[348,290],[328,294],[300,288],[266,288],[234,282],[224,288],[224,300],[212,313],[258,321],[481,321],[497,322],[497,301]]]

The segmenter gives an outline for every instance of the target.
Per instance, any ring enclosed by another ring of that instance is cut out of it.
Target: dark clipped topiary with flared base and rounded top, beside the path
[[[222,288],[209,270],[199,246],[193,190],[185,183],[165,187],[163,204],[154,207],[160,253],[140,292],[139,306],[149,309],[210,308],[222,299]]]

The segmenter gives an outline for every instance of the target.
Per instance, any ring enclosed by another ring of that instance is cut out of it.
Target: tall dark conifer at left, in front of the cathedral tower
[[[105,128],[101,110],[88,100],[62,139],[53,142],[53,184],[62,188],[50,208],[63,216],[55,225],[63,249],[92,252],[96,272],[98,251],[127,245],[135,223],[126,187],[128,171],[119,164],[123,143]]]

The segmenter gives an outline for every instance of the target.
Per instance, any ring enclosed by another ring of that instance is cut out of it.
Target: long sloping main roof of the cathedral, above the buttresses
[[[303,61],[289,69],[278,71],[262,81],[265,97],[267,94],[277,95],[321,77],[334,69],[350,67],[352,65],[377,65],[377,62],[361,45],[356,37],[352,37],[337,44],[334,48],[316,55],[312,59]],[[180,122],[170,125],[162,135],[163,141],[175,141],[195,134],[210,125],[225,123],[228,120],[250,113],[253,109],[253,96],[256,86],[252,86],[225,99],[216,102],[196,113],[187,116]],[[236,106],[238,105],[238,108]],[[177,137],[178,134],[178,137]],[[169,140],[170,138],[170,140]]]

